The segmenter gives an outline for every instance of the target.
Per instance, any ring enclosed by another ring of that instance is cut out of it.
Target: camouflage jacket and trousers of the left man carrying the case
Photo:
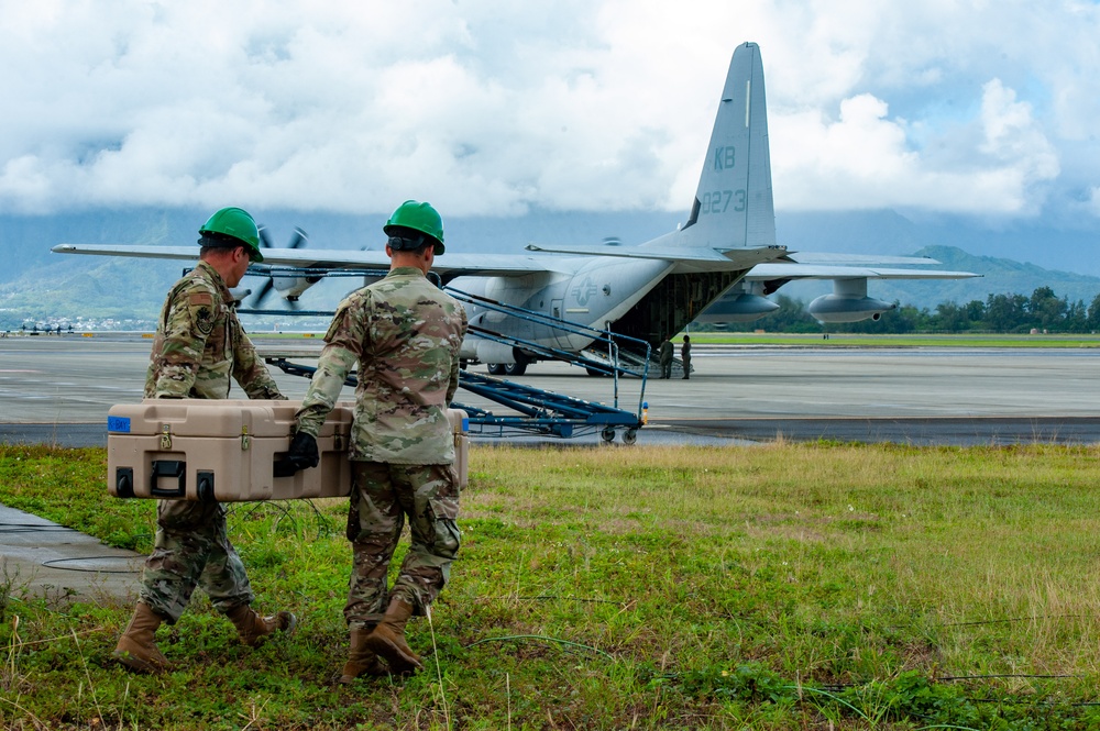
[[[234,378],[249,398],[284,399],[232,308],[224,280],[206,262],[165,298],[150,356],[145,398],[229,396]],[[244,564],[229,541],[221,505],[158,500],[156,541],[139,600],[175,623],[196,585],[219,611],[253,599]]]

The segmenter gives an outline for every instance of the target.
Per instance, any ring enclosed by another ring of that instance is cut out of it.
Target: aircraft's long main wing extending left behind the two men
[[[197,246],[58,244],[52,251],[58,254],[198,261]],[[448,253],[438,257],[431,269],[446,278],[457,276],[509,277],[537,272],[557,272],[559,270],[558,263],[551,256]],[[265,248],[264,262],[258,266],[265,265],[306,269],[388,269],[389,257],[386,256],[386,252],[378,250]]]

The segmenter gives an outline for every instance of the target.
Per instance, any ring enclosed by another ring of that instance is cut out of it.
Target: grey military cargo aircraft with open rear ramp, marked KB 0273
[[[811,302],[822,322],[878,319],[894,306],[867,296],[869,278],[954,279],[966,272],[889,269],[882,264],[937,264],[917,257],[798,254],[776,243],[771,159],[763,65],[755,43],[739,45],[729,64],[718,111],[688,221],[675,231],[636,246],[616,243],[536,245],[531,254],[459,253],[448,243],[432,270],[442,284],[473,296],[466,304],[471,332],[461,357],[524,373],[543,357],[521,345],[477,334],[487,330],[532,345],[581,353],[592,344],[584,332],[562,331],[543,320],[516,318],[477,298],[515,306],[549,318],[610,330],[656,346],[691,322],[749,322],[778,308],[763,295],[794,279],[833,279],[834,293]],[[196,259],[191,246],[61,244],[64,254]],[[272,276],[283,297],[298,297],[318,273],[389,266],[384,251],[266,248],[252,274]],[[265,265],[278,267],[273,274]],[[307,272],[308,270],[308,272]],[[367,276],[370,280],[377,275]]]

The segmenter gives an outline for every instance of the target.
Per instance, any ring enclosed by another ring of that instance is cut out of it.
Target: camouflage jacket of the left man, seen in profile
[[[241,328],[226,281],[199,262],[164,300],[145,376],[145,398],[229,397],[230,377],[252,399],[283,399]]]

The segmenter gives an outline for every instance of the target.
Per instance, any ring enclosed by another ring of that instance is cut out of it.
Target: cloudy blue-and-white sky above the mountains
[[[760,44],[776,207],[1100,221],[1091,0],[0,0],[0,213],[686,210]]]

